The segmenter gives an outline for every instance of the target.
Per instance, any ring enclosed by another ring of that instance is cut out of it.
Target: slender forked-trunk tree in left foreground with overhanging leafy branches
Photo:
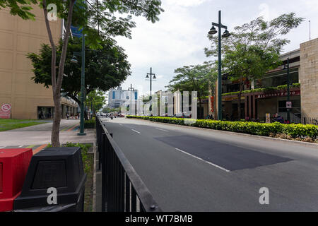
[[[51,61],[51,76],[52,76],[52,93],[54,100],[54,119],[52,126],[52,146],[59,147],[59,125],[61,122],[61,85],[64,77],[64,65],[66,60],[66,52],[70,36],[71,24],[83,28],[82,34],[87,35],[86,41],[90,43],[91,48],[100,48],[100,40],[102,37],[124,35],[130,37],[131,28],[134,28],[134,22],[131,22],[131,15],[144,16],[147,20],[155,23],[158,15],[163,12],[160,0],[101,0],[95,1],[98,5],[98,15],[96,16],[95,7],[86,6],[85,0],[4,0],[1,2],[1,7],[9,7],[13,15],[18,15],[23,19],[34,18],[30,10],[30,4],[40,4],[45,16],[45,25],[47,28],[47,35],[49,43],[52,48]],[[19,6],[18,4],[22,4]],[[57,49],[55,47],[52,30],[49,24],[47,6],[55,4],[57,6],[57,16],[63,18],[65,21],[65,34],[63,45],[61,49],[61,57],[59,59],[59,66],[57,66]],[[126,18],[117,18],[114,13],[126,14]],[[73,16],[74,13],[74,16]],[[73,19],[73,20],[72,20]],[[98,23],[104,32],[95,29]],[[56,67],[57,70],[56,70]]]

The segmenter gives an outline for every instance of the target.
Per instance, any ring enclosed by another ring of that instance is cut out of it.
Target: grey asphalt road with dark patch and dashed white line
[[[164,211],[318,211],[318,148],[222,131],[103,119]],[[261,205],[259,189],[269,189]]]

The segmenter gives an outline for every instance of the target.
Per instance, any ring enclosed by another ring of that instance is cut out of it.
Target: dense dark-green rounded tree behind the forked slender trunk
[[[61,54],[61,42],[57,47],[57,59]],[[85,84],[86,95],[95,89],[106,92],[110,88],[117,87],[130,75],[130,64],[126,60],[127,56],[124,49],[116,45],[116,41],[107,38],[100,42],[102,49],[91,50],[86,47],[85,58]],[[66,53],[63,83],[61,86],[62,94],[75,100],[81,105],[79,95],[81,93],[81,64],[71,63],[73,52],[81,52],[81,39],[74,37],[69,41]],[[46,88],[52,85],[49,62],[52,58],[52,48],[47,44],[42,44],[39,54],[30,53],[28,58],[33,64],[33,81],[41,83]],[[78,59],[81,62],[81,57]],[[87,115],[86,115],[87,118]]]

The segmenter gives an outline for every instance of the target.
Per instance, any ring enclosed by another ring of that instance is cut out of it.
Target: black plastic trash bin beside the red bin
[[[13,211],[81,212],[86,177],[81,148],[46,148],[33,155]],[[47,198],[52,187],[57,189],[57,204],[50,205]]]

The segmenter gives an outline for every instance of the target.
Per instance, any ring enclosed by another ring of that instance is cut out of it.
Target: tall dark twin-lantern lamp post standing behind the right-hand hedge
[[[214,26],[218,27],[218,31]],[[218,32],[218,120],[222,120],[222,59],[221,59],[221,32],[222,28],[225,29],[222,37],[229,37],[228,27],[221,23],[221,11],[218,11],[218,23],[212,23],[212,28],[208,32],[214,35]]]

